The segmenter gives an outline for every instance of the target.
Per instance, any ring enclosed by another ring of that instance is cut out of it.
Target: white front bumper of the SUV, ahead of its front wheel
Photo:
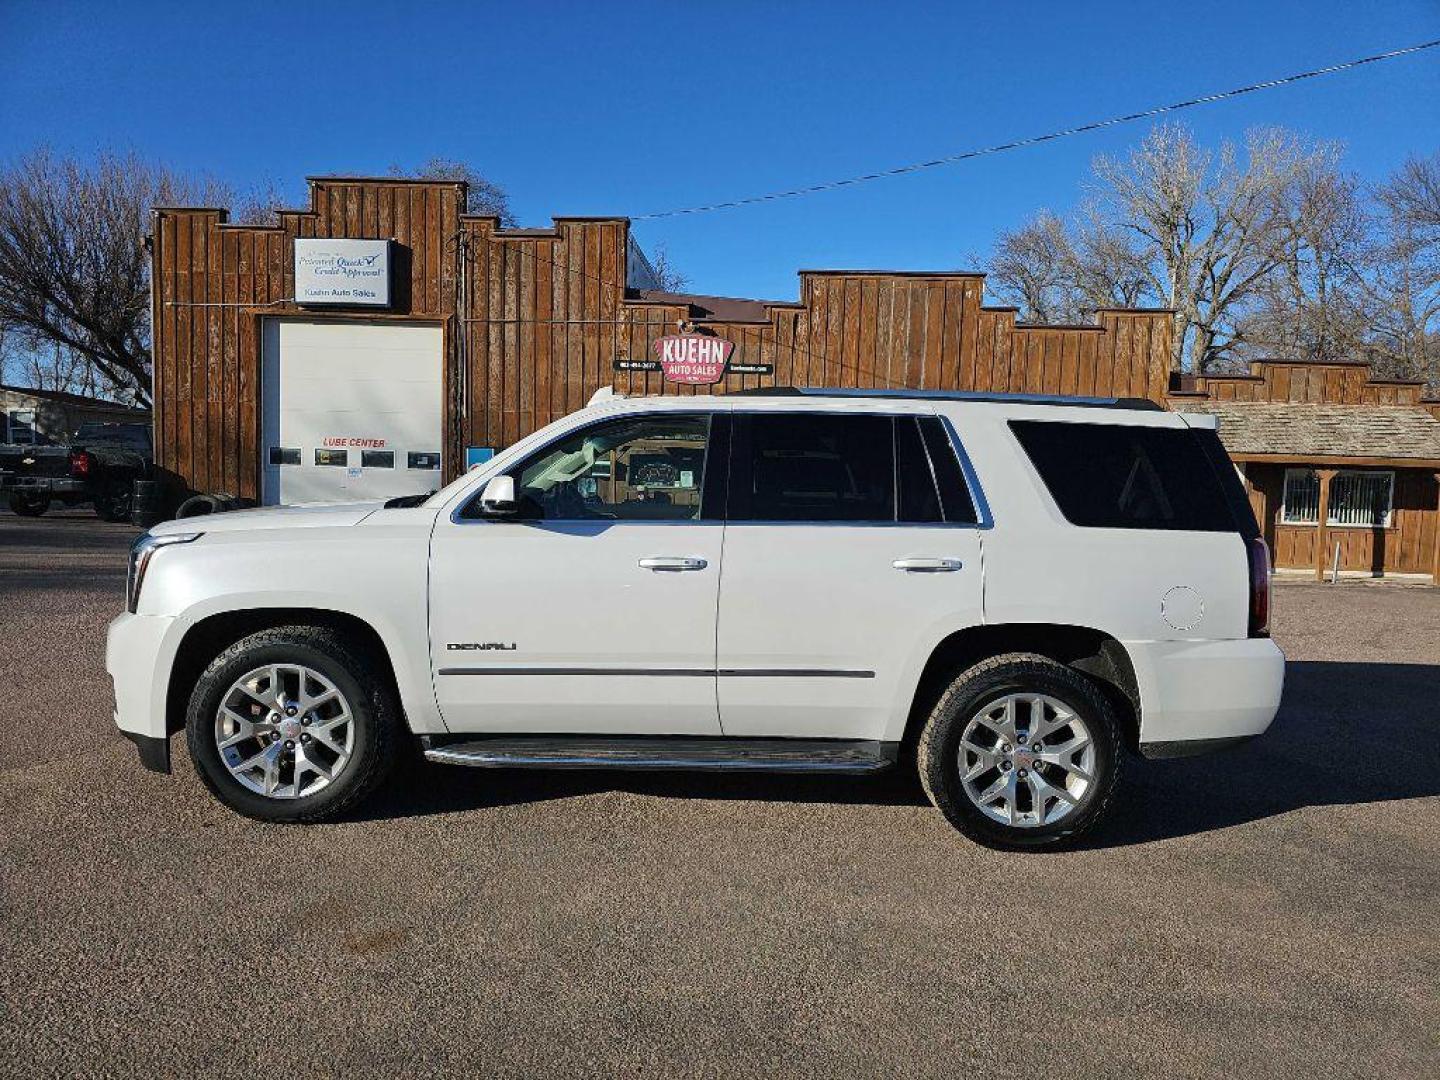
[[[115,726],[150,769],[170,770],[166,696],[173,645],[168,615],[117,615],[105,631],[105,671],[115,687]],[[156,743],[164,743],[164,750]],[[163,768],[161,768],[163,766]]]

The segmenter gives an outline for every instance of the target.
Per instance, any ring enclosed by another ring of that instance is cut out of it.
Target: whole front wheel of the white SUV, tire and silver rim
[[[220,802],[274,822],[327,821],[384,779],[400,708],[373,658],[323,626],[252,634],[190,694],[186,742]]]

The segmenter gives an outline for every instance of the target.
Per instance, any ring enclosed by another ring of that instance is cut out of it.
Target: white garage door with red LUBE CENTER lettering
[[[351,503],[441,485],[438,325],[265,320],[266,503]]]

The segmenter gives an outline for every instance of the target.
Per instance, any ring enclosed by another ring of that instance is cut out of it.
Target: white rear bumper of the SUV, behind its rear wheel
[[[1284,688],[1270,638],[1126,642],[1140,691],[1140,752],[1205,753],[1261,734]]]

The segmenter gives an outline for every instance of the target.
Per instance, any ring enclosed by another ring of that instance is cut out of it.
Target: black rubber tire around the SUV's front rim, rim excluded
[[[220,760],[215,717],[235,680],[265,664],[304,664],[346,697],[354,726],[350,760],[325,788],[278,799],[240,783]],[[383,662],[346,635],[325,626],[276,626],[230,645],[200,675],[186,714],[186,743],[200,779],[226,806],[256,821],[331,821],[359,806],[384,780],[402,750],[400,706],[395,688],[377,675]]]

